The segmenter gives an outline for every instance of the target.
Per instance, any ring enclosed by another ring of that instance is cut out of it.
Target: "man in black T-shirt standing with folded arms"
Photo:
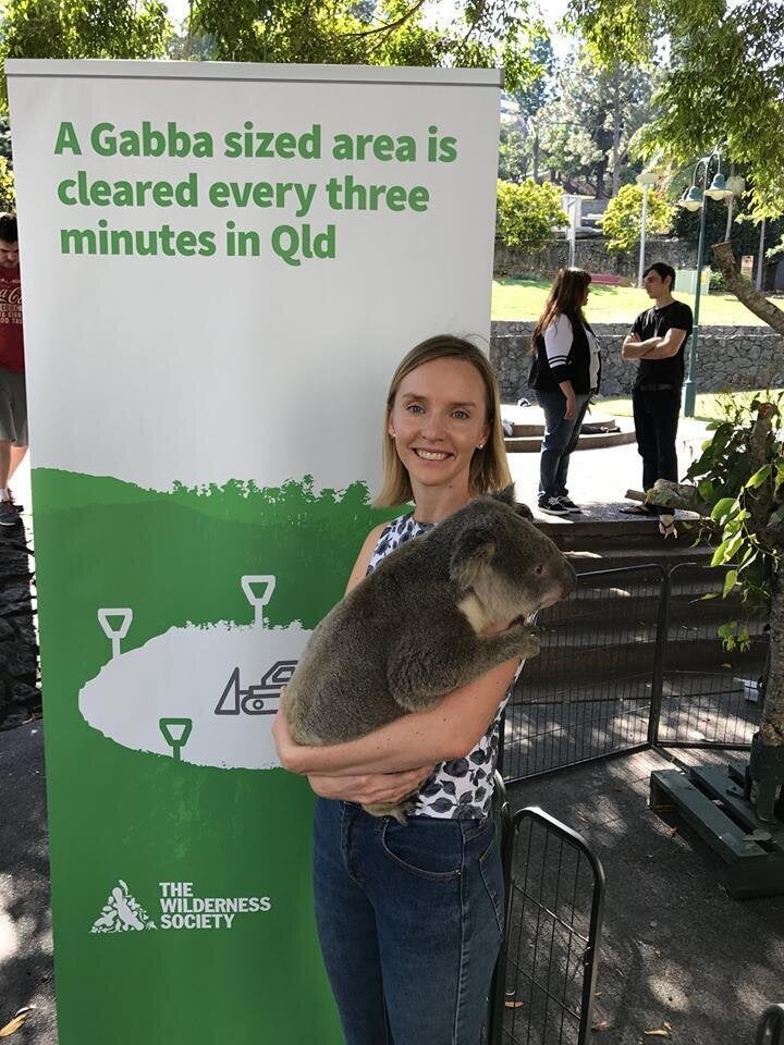
[[[675,269],[654,261],[646,269],[642,285],[653,307],[640,312],[626,336],[621,356],[637,359],[637,377],[632,392],[637,448],[642,457],[642,489],[650,490],[657,479],[677,481],[677,435],[681,390],[684,382],[684,356],[694,321],[691,309],[676,302]],[[628,514],[660,514],[654,505],[634,505]]]

